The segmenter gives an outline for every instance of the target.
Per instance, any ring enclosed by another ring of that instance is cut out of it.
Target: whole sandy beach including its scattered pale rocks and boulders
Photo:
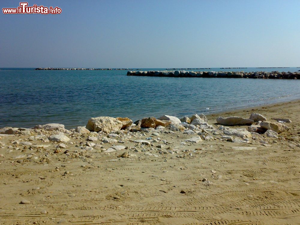
[[[287,224],[299,202],[299,103],[2,128],[1,221]]]

